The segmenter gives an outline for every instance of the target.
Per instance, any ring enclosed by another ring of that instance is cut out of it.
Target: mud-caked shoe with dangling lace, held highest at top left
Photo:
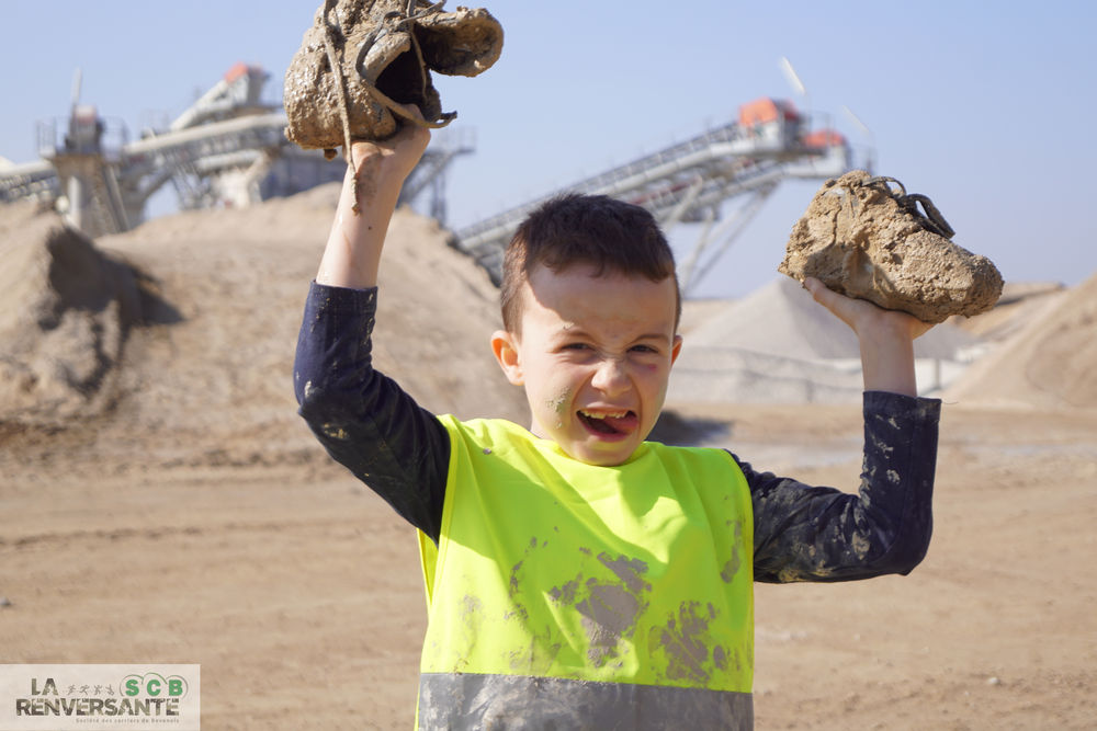
[[[285,73],[286,137],[304,149],[343,145],[344,104],[354,140],[393,136],[403,104],[419,107],[423,126],[456,116],[442,112],[430,71],[487,70],[502,52],[502,26],[483,8],[441,12],[441,5],[416,0],[408,15],[408,0],[326,0]]]

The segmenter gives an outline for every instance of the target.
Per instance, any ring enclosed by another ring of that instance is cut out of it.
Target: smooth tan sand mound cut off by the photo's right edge
[[[1056,299],[947,393],[950,400],[1097,409],[1097,274]]]

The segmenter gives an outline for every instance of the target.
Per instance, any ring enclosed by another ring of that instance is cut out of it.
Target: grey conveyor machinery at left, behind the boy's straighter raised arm
[[[38,124],[42,159],[0,168],[0,202],[52,202],[71,226],[94,237],[139,224],[149,197],[168,183],[179,207],[190,209],[246,206],[342,180],[342,164],[285,138],[281,107],[261,101],[268,77],[237,64],[167,129],[131,141],[124,125],[80,103],[78,71],[68,119]],[[445,169],[471,151],[467,136],[440,136],[402,201],[429,193],[431,215],[444,218]]]

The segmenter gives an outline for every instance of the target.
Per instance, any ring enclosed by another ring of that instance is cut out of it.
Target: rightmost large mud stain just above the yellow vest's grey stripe
[[[660,653],[666,656],[668,679],[705,685],[713,670],[727,667],[725,648],[715,646],[710,652],[709,624],[717,614],[711,604],[702,607],[700,602],[682,602],[677,616],[669,616],[663,627],[652,628],[648,650],[653,658]]]

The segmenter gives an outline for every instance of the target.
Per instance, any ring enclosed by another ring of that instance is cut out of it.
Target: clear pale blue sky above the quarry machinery
[[[281,79],[319,2],[0,0],[0,156],[35,158],[35,121],[82,100],[132,135],[178,115],[235,62]],[[451,2],[450,5],[455,3]],[[474,3],[470,3],[474,4]],[[1077,284],[1097,272],[1097,5],[1020,2],[580,2],[485,0],[499,62],[437,78],[477,151],[449,178],[450,222],[474,222],[706,126],[759,96],[792,99],[787,56],[813,111],[877,172],[932,197],[957,243],[1006,279]],[[770,281],[816,182],[788,182],[699,289],[740,296]],[[321,236],[321,235],[320,235]],[[319,238],[319,237],[318,237]],[[691,241],[688,239],[687,241]]]

